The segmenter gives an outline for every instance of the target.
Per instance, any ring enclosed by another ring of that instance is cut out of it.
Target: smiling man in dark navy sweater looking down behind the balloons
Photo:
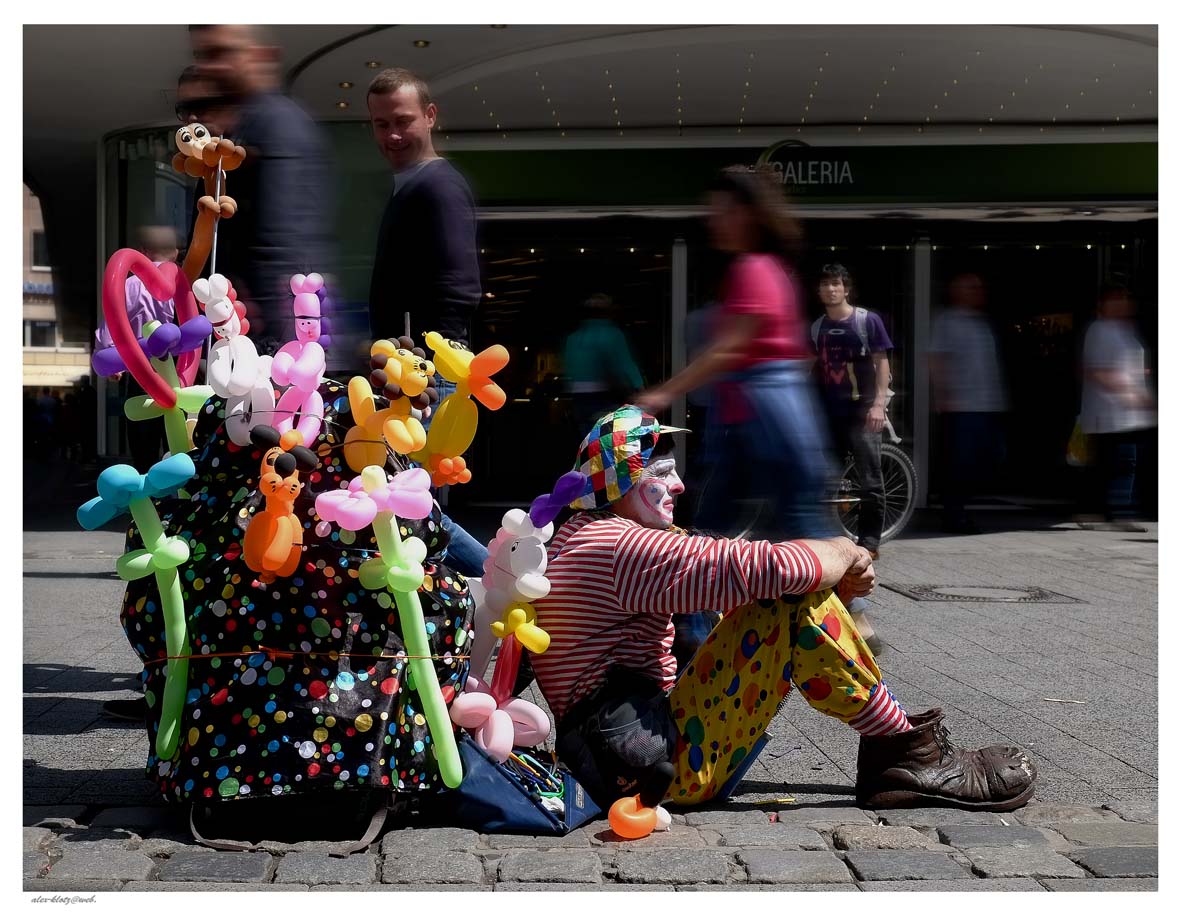
[[[476,204],[466,179],[435,152],[430,87],[409,70],[383,70],[365,98],[378,151],[393,168],[370,281],[370,329],[374,339],[396,340],[409,314],[412,336],[437,331],[466,346],[481,295]],[[441,403],[455,393],[446,379],[435,384]],[[488,549],[445,513],[443,528],[451,567],[483,575]]]

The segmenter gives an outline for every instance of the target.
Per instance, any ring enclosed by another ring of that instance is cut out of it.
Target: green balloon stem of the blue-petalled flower
[[[164,543],[164,525],[151,499],[132,499],[128,508],[139,529],[144,549],[155,554]],[[184,619],[184,595],[177,570],[157,569],[161,606],[164,609],[164,645],[168,649],[168,675],[164,678],[164,700],[161,704],[159,731],[156,733],[156,755],[168,760],[176,752],[181,737],[181,713],[184,694],[189,688],[189,660],[177,655],[189,654],[188,622]]]

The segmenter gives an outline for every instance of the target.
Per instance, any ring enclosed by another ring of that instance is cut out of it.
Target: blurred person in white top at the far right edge
[[[1135,314],[1135,300],[1124,287],[1102,289],[1098,318],[1083,344],[1079,423],[1094,454],[1084,511],[1101,513],[1121,530],[1142,531],[1130,521],[1137,508],[1136,463],[1142,457],[1143,431],[1156,425],[1156,412]]]

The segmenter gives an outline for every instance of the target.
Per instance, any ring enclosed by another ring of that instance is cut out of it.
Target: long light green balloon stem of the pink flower
[[[373,534],[377,536],[381,556],[390,561],[389,565],[409,565],[402,550],[398,519],[392,512],[378,512],[373,519]],[[410,656],[415,691],[423,704],[423,715],[426,717],[426,724],[431,729],[439,774],[445,786],[456,789],[463,781],[463,765],[459,763],[459,748],[455,742],[451,717],[448,715],[443,691],[439,689],[435,666],[431,665],[431,647],[426,635],[426,621],[423,619],[423,606],[418,601],[418,591],[394,591],[393,597],[398,604],[402,640]]]

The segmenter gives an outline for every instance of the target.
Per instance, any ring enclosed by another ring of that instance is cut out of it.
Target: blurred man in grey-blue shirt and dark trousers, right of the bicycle
[[[948,307],[931,334],[942,425],[944,531],[974,535],[980,529],[967,513],[967,500],[1004,458],[1001,420],[1009,403],[984,282],[976,274],[959,274],[947,293]]]

